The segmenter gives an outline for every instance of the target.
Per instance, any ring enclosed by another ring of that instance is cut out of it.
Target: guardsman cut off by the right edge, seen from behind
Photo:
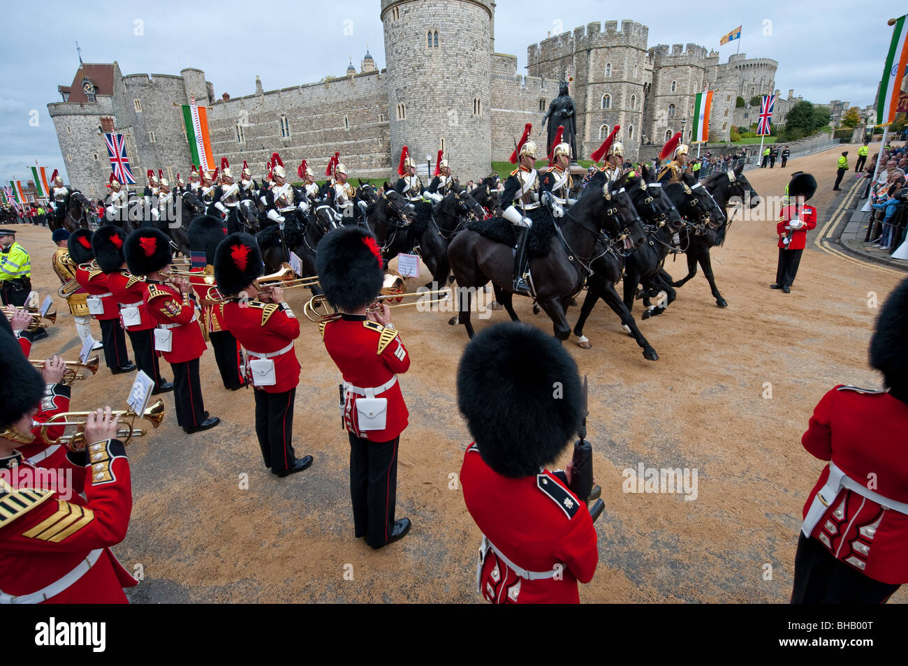
[[[792,603],[883,603],[908,583],[908,279],[870,339],[876,391],[837,386],[801,443],[828,460],[804,504]]]

